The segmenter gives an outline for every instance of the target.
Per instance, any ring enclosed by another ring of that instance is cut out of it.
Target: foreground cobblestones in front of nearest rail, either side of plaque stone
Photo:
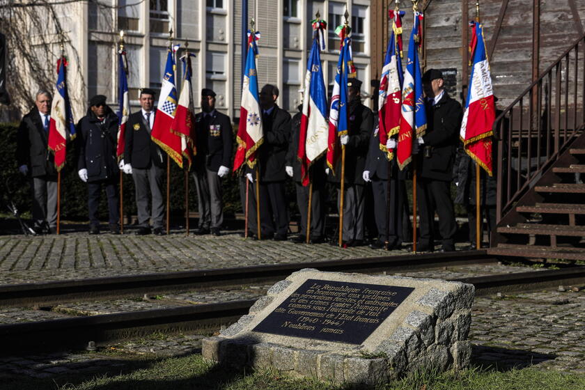
[[[532,292],[503,298],[478,297],[469,338],[474,366],[533,366],[585,373],[585,290]],[[116,375],[141,359],[183,356],[201,350],[206,335],[164,336],[118,343],[95,352],[60,352],[0,358],[2,377]]]

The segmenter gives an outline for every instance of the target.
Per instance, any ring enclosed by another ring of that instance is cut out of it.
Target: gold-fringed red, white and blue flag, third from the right
[[[386,154],[388,161],[393,158],[394,150],[388,150],[386,143],[389,138],[400,130],[400,109],[402,108],[402,17],[404,11],[389,11],[393,20],[392,33],[386,50],[380,88],[378,89],[378,137],[380,150]]]

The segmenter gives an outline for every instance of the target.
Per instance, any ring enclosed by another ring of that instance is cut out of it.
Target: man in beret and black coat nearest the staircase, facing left
[[[427,130],[414,143],[418,152],[418,194],[420,237],[418,251],[433,251],[436,232],[433,228],[435,212],[439,215],[439,233],[442,237],[441,251],[454,251],[453,237],[457,230],[455,212],[451,199],[451,180],[458,135],[461,127],[462,109],[459,102],[451,99],[444,90],[442,72],[430,69],[423,75],[426,94]]]

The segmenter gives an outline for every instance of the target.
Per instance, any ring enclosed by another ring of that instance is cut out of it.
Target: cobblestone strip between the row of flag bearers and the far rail
[[[466,244],[459,244],[462,249]],[[0,236],[0,284],[86,279],[116,275],[178,272],[292,262],[315,262],[407,254],[406,249],[384,251],[329,244],[253,241],[239,231],[219,237],[132,234],[90,236],[66,233],[25,237]]]

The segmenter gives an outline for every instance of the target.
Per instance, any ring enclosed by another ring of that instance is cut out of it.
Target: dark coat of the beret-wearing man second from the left
[[[77,169],[87,169],[88,182],[118,175],[117,137],[118,116],[109,107],[103,123],[91,109],[77,123]]]

